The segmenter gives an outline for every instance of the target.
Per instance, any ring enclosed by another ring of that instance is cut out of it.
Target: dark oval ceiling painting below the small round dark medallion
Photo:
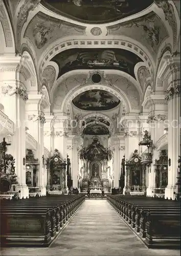
[[[81,110],[104,111],[118,106],[120,100],[113,94],[103,90],[89,90],[79,94],[72,102]]]

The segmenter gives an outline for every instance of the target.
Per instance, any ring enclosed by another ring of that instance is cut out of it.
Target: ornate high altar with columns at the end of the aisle
[[[110,167],[111,151],[105,148],[97,137],[93,137],[92,144],[82,148],[80,159],[83,160],[81,167],[82,182],[81,191],[101,190],[108,193],[111,189]]]

